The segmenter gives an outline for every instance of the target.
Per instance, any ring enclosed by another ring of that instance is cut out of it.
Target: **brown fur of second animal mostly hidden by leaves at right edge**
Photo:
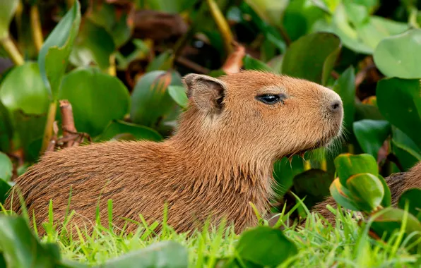
[[[391,205],[396,206],[398,204],[399,197],[401,194],[409,188],[421,188],[421,162],[418,162],[408,172],[393,173],[391,176],[385,178],[387,185],[391,190],[392,200]],[[326,205],[331,205],[336,209],[336,201],[333,197],[328,197],[324,202],[321,202],[312,207],[312,212],[321,214],[331,224],[335,224],[335,215],[332,214]]]

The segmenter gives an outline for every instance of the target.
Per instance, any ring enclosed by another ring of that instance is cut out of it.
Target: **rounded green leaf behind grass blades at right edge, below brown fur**
[[[405,225],[405,237],[408,236],[410,233],[418,232],[415,236],[410,238],[410,243],[415,242],[415,240],[420,238],[421,232],[421,223],[420,221],[408,212],[405,212],[403,209],[399,209],[396,207],[386,207],[385,209],[381,209],[378,212],[378,215],[374,214],[374,221],[371,226],[371,230],[376,233],[378,237],[384,237],[385,240],[388,240],[393,232],[397,232],[401,229],[403,218],[407,215],[407,221]],[[384,234],[386,233],[386,236]],[[420,247],[420,245],[418,245]]]

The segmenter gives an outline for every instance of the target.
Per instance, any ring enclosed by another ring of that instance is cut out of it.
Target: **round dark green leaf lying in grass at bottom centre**
[[[297,246],[280,229],[268,226],[244,231],[235,250],[241,260],[269,267],[275,267],[298,253]]]

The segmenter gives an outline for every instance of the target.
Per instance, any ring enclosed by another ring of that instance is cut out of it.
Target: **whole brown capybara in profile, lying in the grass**
[[[107,226],[108,199],[118,228],[126,223],[122,218],[141,222],[139,214],[148,224],[161,221],[167,202],[167,224],[175,231],[201,229],[209,217],[213,225],[224,218],[240,233],[258,224],[249,202],[263,216],[269,207],[274,162],[328,145],[342,131],[340,96],[307,80],[240,71],[220,78],[191,73],[183,82],[189,104],[167,140],[49,152],[18,177],[12,189],[20,190],[37,225],[48,221],[50,199],[54,221],[63,221],[71,190],[71,222],[88,233],[98,203]],[[12,196],[4,206],[19,213]],[[126,231],[137,227],[127,221]]]

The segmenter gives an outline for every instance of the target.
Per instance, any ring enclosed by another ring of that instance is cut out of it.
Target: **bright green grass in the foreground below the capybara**
[[[396,248],[396,239],[384,243],[370,238],[366,229],[352,218],[352,213],[338,214],[336,218],[335,227],[326,224],[319,214],[310,214],[304,228],[296,224],[286,227],[284,233],[297,245],[298,254],[280,267],[410,267],[417,261],[416,255],[403,248],[405,243]],[[155,234],[156,226],[158,222],[151,226],[140,224],[136,233],[123,235],[97,224],[92,236],[82,235],[81,230],[80,239],[60,236],[49,226],[41,240],[58,243],[64,259],[89,265],[102,264],[162,240],[174,240],[188,248],[190,267],[213,267],[220,258],[235,255],[239,236],[230,227],[226,231],[196,231],[188,237],[186,233],[175,233],[165,224]]]

